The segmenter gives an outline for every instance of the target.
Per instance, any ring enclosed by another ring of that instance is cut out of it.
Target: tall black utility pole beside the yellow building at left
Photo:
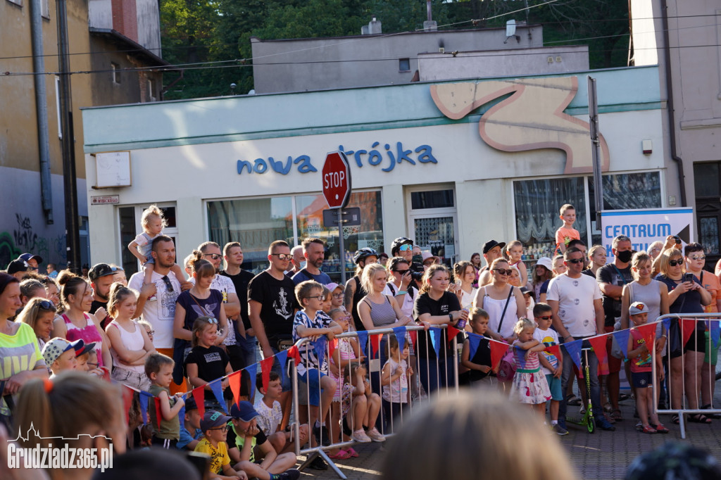
[[[63,186],[65,187],[65,232],[68,269],[80,272],[80,234],[78,218],[78,187],[75,171],[75,133],[73,103],[70,87],[70,58],[68,56],[67,0],[58,0],[58,61],[60,71],[60,114],[63,128]]]

